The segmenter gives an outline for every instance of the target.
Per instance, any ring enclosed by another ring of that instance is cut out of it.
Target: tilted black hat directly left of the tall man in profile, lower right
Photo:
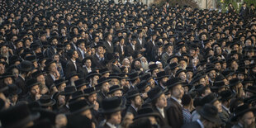
[[[155,99],[157,99],[158,97],[160,97],[162,94],[164,94],[165,92],[167,92],[168,90],[162,90],[159,87],[155,87],[152,88],[149,92],[148,92],[148,97],[147,100],[145,102],[153,102]]]

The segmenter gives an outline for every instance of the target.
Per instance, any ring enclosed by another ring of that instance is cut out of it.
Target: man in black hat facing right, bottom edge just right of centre
[[[142,99],[140,97],[140,92],[137,90],[131,90],[127,92],[127,100],[130,100],[130,106],[127,108],[126,112],[133,114],[133,116],[137,116],[137,111],[142,106]]]

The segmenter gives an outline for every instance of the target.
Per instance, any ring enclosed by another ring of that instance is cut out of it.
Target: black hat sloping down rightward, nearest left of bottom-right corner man
[[[218,109],[209,103],[198,109],[197,112],[208,121],[214,122],[217,125],[222,124],[220,116],[218,115]]]

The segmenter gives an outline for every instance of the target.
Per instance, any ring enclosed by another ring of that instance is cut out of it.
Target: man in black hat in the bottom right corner
[[[252,128],[255,127],[255,112],[256,108],[250,108],[248,104],[241,105],[235,108],[235,113],[231,117],[231,121],[236,121],[232,128]]]

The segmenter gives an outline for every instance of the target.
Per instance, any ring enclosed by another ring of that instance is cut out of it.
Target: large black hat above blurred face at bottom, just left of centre
[[[122,106],[121,97],[110,97],[102,100],[102,108],[99,112],[103,114],[122,111],[126,107]]]

